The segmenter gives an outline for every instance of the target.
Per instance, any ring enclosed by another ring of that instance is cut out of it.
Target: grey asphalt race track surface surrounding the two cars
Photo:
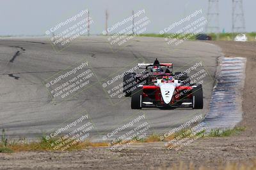
[[[110,45],[107,38],[80,37],[57,52],[49,38],[1,38],[0,128],[4,128],[10,138],[38,138],[60,124],[73,122],[86,110],[95,125],[90,138],[102,139],[106,131],[129,122],[139,110],[131,110],[130,97],[109,100],[100,80],[108,80],[109,75],[121,73],[124,68],[135,66],[137,61],[152,63],[156,57],[160,62],[173,62],[174,71],[202,62],[208,76],[203,83],[204,110],[145,108],[142,111],[150,122],[150,132],[166,132],[196,115],[207,114],[217,59],[222,55],[218,46],[202,41],[169,46],[163,38],[143,37],[117,46]],[[42,81],[79,60],[88,61],[97,79],[77,96],[52,103]]]

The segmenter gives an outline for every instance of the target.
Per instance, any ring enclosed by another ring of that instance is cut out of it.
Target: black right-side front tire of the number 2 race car
[[[203,89],[202,85],[198,85],[192,89],[192,103],[193,109],[202,109],[204,108],[204,99],[203,99]]]

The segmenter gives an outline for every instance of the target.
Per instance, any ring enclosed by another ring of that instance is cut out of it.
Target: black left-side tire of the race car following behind
[[[132,94],[131,92],[132,87],[133,87],[134,81],[136,81],[135,76],[136,76],[136,73],[128,73],[124,76],[123,92],[125,94],[125,97],[129,97]]]

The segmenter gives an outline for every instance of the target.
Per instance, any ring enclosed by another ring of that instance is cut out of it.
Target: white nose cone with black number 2
[[[169,104],[172,101],[173,92],[176,87],[175,83],[160,83],[159,87],[164,103]]]

